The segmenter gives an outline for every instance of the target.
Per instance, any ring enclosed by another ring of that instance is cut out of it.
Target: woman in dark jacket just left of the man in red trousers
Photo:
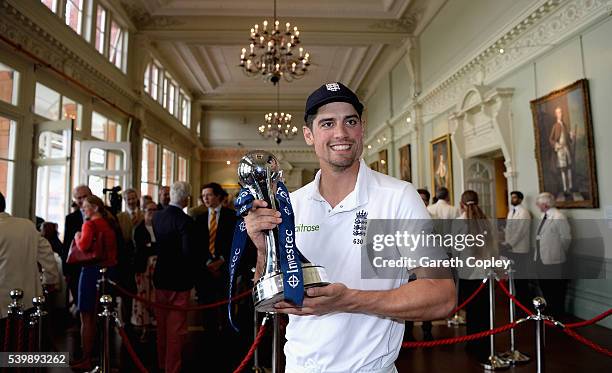
[[[157,211],[157,204],[149,201],[143,207],[144,220],[134,228],[136,289],[139,296],[154,301],[153,272],[157,255],[155,234],[153,233],[153,214]],[[147,329],[155,325],[153,310],[144,303],[134,300],[132,306],[132,324],[142,327],[141,340],[146,340]]]

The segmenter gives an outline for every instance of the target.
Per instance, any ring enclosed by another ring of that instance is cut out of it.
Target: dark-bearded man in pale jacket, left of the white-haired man
[[[531,214],[523,202],[523,193],[515,190],[510,192],[510,204],[512,207],[506,218],[505,241],[501,243],[504,254],[514,261],[516,271],[515,280],[516,294],[521,301],[528,300],[527,278],[529,271],[529,246]]]

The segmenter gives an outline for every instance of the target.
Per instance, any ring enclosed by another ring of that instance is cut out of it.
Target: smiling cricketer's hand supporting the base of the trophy
[[[274,305],[274,308],[280,313],[298,316],[348,312],[350,311],[351,294],[355,291],[341,283],[329,284],[307,289],[304,304],[301,308],[288,302],[278,302]]]

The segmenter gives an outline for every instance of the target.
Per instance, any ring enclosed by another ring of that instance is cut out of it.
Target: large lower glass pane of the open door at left
[[[58,223],[64,231],[66,166],[41,166],[36,175],[36,216]]]

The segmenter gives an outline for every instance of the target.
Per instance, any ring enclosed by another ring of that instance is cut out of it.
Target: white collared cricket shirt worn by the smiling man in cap
[[[362,228],[369,219],[429,219],[412,184],[383,175],[360,161],[355,189],[335,207],[319,193],[321,173],[291,193],[296,244],[312,263],[325,267],[331,282],[352,289],[390,290],[408,281],[365,279],[361,273]],[[365,233],[365,232],[364,232]],[[287,326],[287,372],[393,372],[404,323],[358,313],[290,316]]]

